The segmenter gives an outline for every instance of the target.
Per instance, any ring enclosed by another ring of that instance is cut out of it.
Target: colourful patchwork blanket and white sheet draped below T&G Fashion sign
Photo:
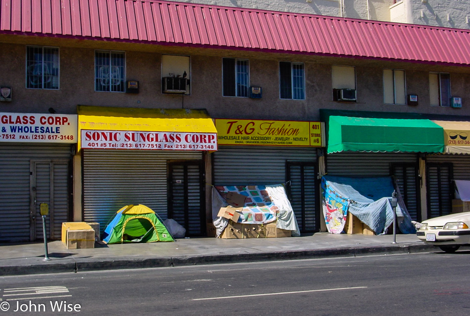
[[[227,209],[228,206],[235,210]],[[229,220],[247,225],[276,223],[277,228],[291,231],[292,236],[300,236],[292,205],[282,184],[213,187],[212,219],[217,237],[225,230]]]

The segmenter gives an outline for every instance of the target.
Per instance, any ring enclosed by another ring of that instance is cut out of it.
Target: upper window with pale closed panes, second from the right
[[[383,70],[383,103],[406,104],[406,86],[404,70]]]

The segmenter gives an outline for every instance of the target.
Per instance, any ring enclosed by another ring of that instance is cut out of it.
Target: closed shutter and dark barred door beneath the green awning
[[[421,221],[421,173],[417,154],[337,153],[329,154],[326,164],[326,171],[332,176],[394,176],[412,220]]]

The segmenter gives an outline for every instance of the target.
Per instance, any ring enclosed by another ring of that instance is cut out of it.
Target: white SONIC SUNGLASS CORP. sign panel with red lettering
[[[216,133],[81,130],[81,148],[216,151]]]

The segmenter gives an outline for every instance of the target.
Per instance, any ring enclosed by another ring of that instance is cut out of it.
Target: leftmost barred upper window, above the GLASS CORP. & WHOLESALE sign
[[[59,88],[59,48],[26,47],[26,88]]]

